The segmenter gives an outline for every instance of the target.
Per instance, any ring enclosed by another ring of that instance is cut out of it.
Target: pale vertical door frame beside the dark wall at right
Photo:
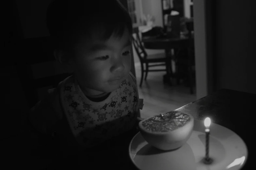
[[[214,5],[212,1],[193,1],[197,99],[216,91]]]

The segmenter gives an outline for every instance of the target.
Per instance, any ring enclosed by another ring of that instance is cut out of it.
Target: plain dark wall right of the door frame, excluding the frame
[[[256,94],[255,1],[216,1],[216,89]]]

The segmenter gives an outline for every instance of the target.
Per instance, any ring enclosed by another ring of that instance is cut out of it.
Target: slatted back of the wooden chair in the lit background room
[[[138,29],[133,34],[133,45],[141,63],[147,59],[147,52],[145,51],[144,45],[140,39]]]

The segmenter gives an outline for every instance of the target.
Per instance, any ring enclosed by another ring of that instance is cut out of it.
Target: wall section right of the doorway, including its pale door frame
[[[222,88],[256,93],[254,6],[194,1],[197,99]]]

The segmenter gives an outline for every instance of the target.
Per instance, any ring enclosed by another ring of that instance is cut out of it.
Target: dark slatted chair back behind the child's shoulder
[[[39,37],[19,40],[11,45],[13,64],[31,108],[39,99],[39,89],[54,88],[70,74],[55,68],[54,41],[51,37]],[[37,70],[37,74],[35,74]]]

